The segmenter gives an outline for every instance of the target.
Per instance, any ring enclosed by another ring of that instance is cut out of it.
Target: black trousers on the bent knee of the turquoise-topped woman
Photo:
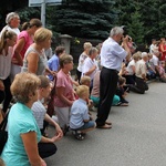
[[[53,143],[38,143],[38,151],[41,158],[46,158],[55,154],[58,148]]]

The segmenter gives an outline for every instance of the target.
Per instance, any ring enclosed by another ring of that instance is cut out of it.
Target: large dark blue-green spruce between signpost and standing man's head
[[[108,0],[66,0],[62,6],[50,7],[49,11],[54,14],[49,18],[52,18],[53,30],[63,34],[105,39],[117,18],[111,10],[114,3]]]

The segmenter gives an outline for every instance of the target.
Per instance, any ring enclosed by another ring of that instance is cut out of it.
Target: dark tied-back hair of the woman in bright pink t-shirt
[[[30,20],[30,22],[24,22],[23,24],[22,24],[22,28],[21,28],[21,30],[23,31],[23,30],[28,30],[28,29],[30,29],[30,28],[32,28],[32,27],[37,27],[37,28],[40,28],[40,27],[42,27],[42,22],[39,20],[39,19],[31,19]]]

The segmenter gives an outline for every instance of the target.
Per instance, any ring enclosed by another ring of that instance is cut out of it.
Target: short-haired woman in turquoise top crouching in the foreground
[[[8,141],[1,157],[7,165],[14,166],[46,166],[41,158],[48,146],[54,147],[55,141],[61,136],[52,138],[41,136],[40,128],[32,114],[32,104],[38,100],[38,87],[40,80],[31,73],[19,73],[11,84],[11,93],[18,102],[11,107],[8,116]],[[38,143],[45,143],[43,148]]]

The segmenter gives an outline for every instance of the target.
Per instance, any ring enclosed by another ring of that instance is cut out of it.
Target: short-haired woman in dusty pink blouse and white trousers
[[[62,55],[60,58],[60,68],[61,70],[56,75],[54,104],[60,126],[65,134],[70,121],[70,108],[75,100],[73,81],[70,75],[70,71],[73,69],[73,58],[68,54]]]

